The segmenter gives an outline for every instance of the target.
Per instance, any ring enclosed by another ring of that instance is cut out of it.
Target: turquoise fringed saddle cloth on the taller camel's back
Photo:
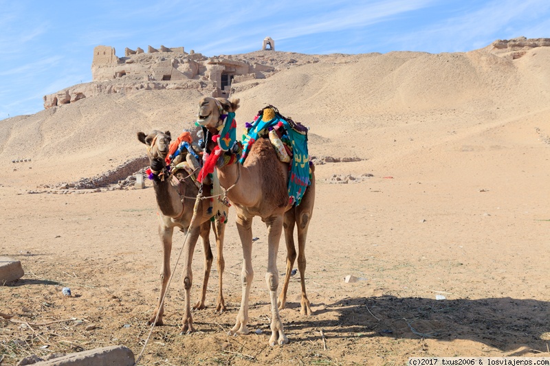
[[[281,161],[289,163],[287,184],[290,203],[300,205],[307,187],[311,184],[309,153],[307,151],[307,127],[285,118],[274,106],[266,106],[254,117],[252,124],[246,124],[243,135],[243,154],[239,162],[244,163],[252,144],[260,137],[269,136]]]

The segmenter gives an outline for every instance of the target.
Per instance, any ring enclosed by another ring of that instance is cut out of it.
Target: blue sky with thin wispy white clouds
[[[548,0],[4,1],[0,119],[91,81],[97,45],[185,47],[206,56],[261,48],[304,54],[464,52],[496,39],[550,37]]]

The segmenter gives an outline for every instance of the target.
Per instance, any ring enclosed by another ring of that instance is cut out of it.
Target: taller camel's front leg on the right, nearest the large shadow
[[[277,252],[279,241],[281,240],[281,231],[283,231],[283,215],[271,216],[265,220],[267,226],[267,273],[265,273],[265,282],[270,289],[271,300],[271,338],[270,345],[283,345],[288,343],[287,336],[283,332],[283,322],[279,316],[277,307],[277,287],[279,282],[279,273],[277,271]]]

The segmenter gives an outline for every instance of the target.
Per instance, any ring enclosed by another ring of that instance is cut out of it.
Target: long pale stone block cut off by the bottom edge
[[[133,364],[133,352],[123,345],[95,348],[34,363],[35,366],[133,366]]]

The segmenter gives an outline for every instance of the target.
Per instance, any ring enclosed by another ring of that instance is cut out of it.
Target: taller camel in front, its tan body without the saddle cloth
[[[223,113],[234,113],[239,108],[239,100],[228,101],[225,98],[202,98],[199,102],[197,122],[206,127],[212,135],[219,133]],[[223,137],[223,136],[222,136]],[[220,137],[221,138],[221,137]],[[231,150],[225,155],[231,154]],[[292,162],[291,162],[292,163]],[[218,166],[217,174],[221,186],[236,209],[236,227],[243,247],[243,268],[241,272],[242,299],[239,314],[231,335],[248,334],[248,301],[250,286],[254,277],[252,268],[252,218],[260,216],[267,227],[268,259],[265,280],[270,290],[272,321],[270,345],[288,343],[283,332],[283,323],[278,310],[285,308],[289,279],[296,260],[294,245],[294,227],[298,231],[298,269],[302,286],[300,312],[311,314],[311,305],[305,290],[305,242],[315,200],[314,166],[311,165],[311,185],[299,205],[289,202],[287,179],[289,163],[278,159],[269,139],[259,138],[252,145],[245,162]],[[277,251],[281,231],[285,228],[287,245],[286,275],[281,295],[277,298],[278,271]]]

